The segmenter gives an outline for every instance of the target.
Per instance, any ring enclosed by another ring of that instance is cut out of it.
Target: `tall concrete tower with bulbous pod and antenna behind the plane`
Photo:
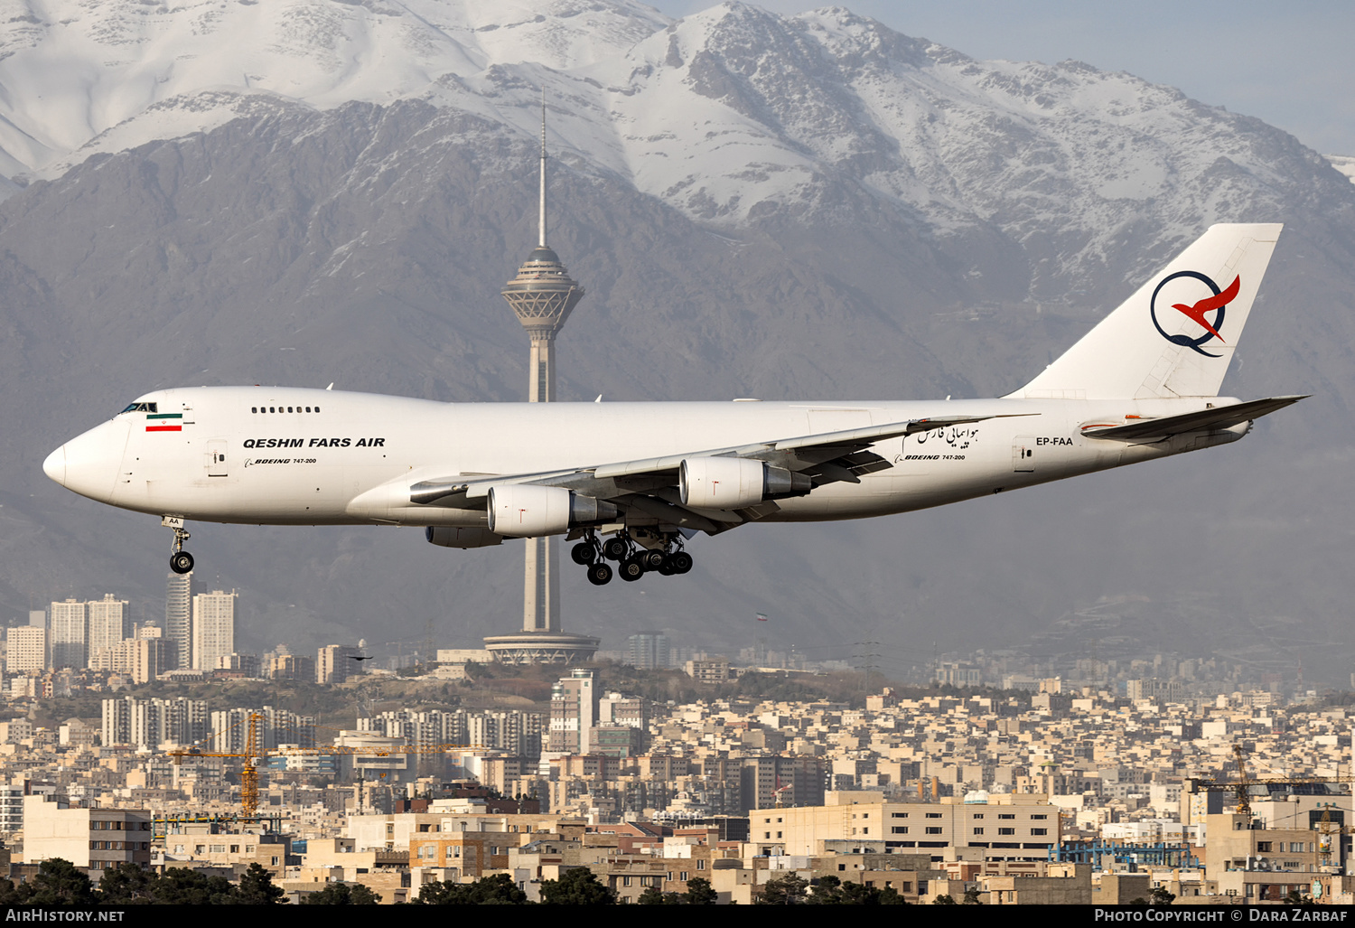
[[[531,339],[528,402],[556,400],[556,335],[584,297],[584,289],[546,244],[546,100],[541,102],[541,196],[537,248],[504,284],[503,298]],[[485,638],[485,648],[509,664],[575,664],[591,660],[598,638],[560,630],[560,573],[554,538],[528,538],[522,633]]]

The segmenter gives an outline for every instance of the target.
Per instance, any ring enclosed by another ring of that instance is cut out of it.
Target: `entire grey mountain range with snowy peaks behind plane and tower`
[[[883,623],[886,644],[939,629],[997,645],[1133,593],[1153,603],[1141,626],[1182,648],[1236,620],[1252,637],[1230,641],[1274,660],[1257,629],[1294,622],[1346,660],[1355,580],[1335,539],[1355,513],[1329,488],[1355,425],[1355,186],[1274,127],[1084,64],[974,61],[846,9],[0,0],[0,22],[14,610],[112,589],[160,608],[154,520],[41,473],[118,401],[331,381],[520,398],[526,341],[497,290],[534,241],[543,87],[551,244],[589,291],[560,340],[566,397],[993,396],[1217,221],[1287,224],[1226,387],[1318,394],[1156,470],[709,539],[701,584],[599,592],[566,574],[566,627],[667,623],[720,649],[747,644],[729,615],[770,612],[799,642]],[[194,535],[202,569],[249,591],[256,648],[356,638],[377,615],[438,615],[465,642],[515,622],[508,551]]]

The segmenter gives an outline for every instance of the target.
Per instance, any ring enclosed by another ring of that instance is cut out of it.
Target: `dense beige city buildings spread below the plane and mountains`
[[[104,595],[5,630],[14,883],[60,859],[95,882],[257,866],[293,901],[486,878],[539,901],[580,868],[623,902],[851,883],[904,902],[1355,900],[1350,709],[1221,660],[1081,660],[1075,679],[943,656],[924,688],[751,662],[787,662],[764,646],[673,667],[667,635],[637,633],[533,677],[482,650],[238,653],[237,597],[171,574],[163,623]],[[262,681],[317,709],[229,704]],[[49,718],[60,704],[99,715]]]

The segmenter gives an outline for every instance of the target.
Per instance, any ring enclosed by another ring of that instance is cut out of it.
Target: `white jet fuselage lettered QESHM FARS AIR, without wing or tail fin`
[[[72,439],[45,463],[49,476],[125,509],[259,524],[482,527],[482,507],[415,504],[409,488],[458,476],[696,455],[935,416],[1008,416],[879,442],[871,451],[890,467],[856,484],[829,484],[778,500],[779,509],[766,516],[858,519],[1191,451],[1247,432],[1243,424],[1150,444],[1081,434],[1088,424],[1236,402],[1217,397],[447,404],[309,389],[196,387],[157,390],[140,401],[154,404],[156,417],[144,410],[119,413]]]

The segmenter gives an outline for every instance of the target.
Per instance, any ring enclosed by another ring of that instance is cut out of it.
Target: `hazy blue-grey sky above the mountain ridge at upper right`
[[[669,16],[710,0],[649,0]],[[780,14],[831,5],[756,4]],[[847,0],[905,35],[976,58],[1077,58],[1259,117],[1324,154],[1355,154],[1355,3],[1348,0]]]

